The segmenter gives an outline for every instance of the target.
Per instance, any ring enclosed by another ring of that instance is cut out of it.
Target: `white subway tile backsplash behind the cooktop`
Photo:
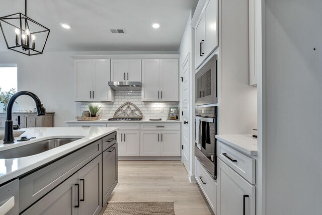
[[[125,102],[132,102],[142,112],[143,119],[162,118],[167,119],[170,107],[179,107],[179,102],[142,102],[141,92],[115,92],[115,102],[102,102],[97,104],[102,106],[99,111],[100,119],[112,118],[115,111]],[[164,109],[164,113],[160,113],[160,108]],[[88,110],[88,102],[82,102],[81,111]]]

